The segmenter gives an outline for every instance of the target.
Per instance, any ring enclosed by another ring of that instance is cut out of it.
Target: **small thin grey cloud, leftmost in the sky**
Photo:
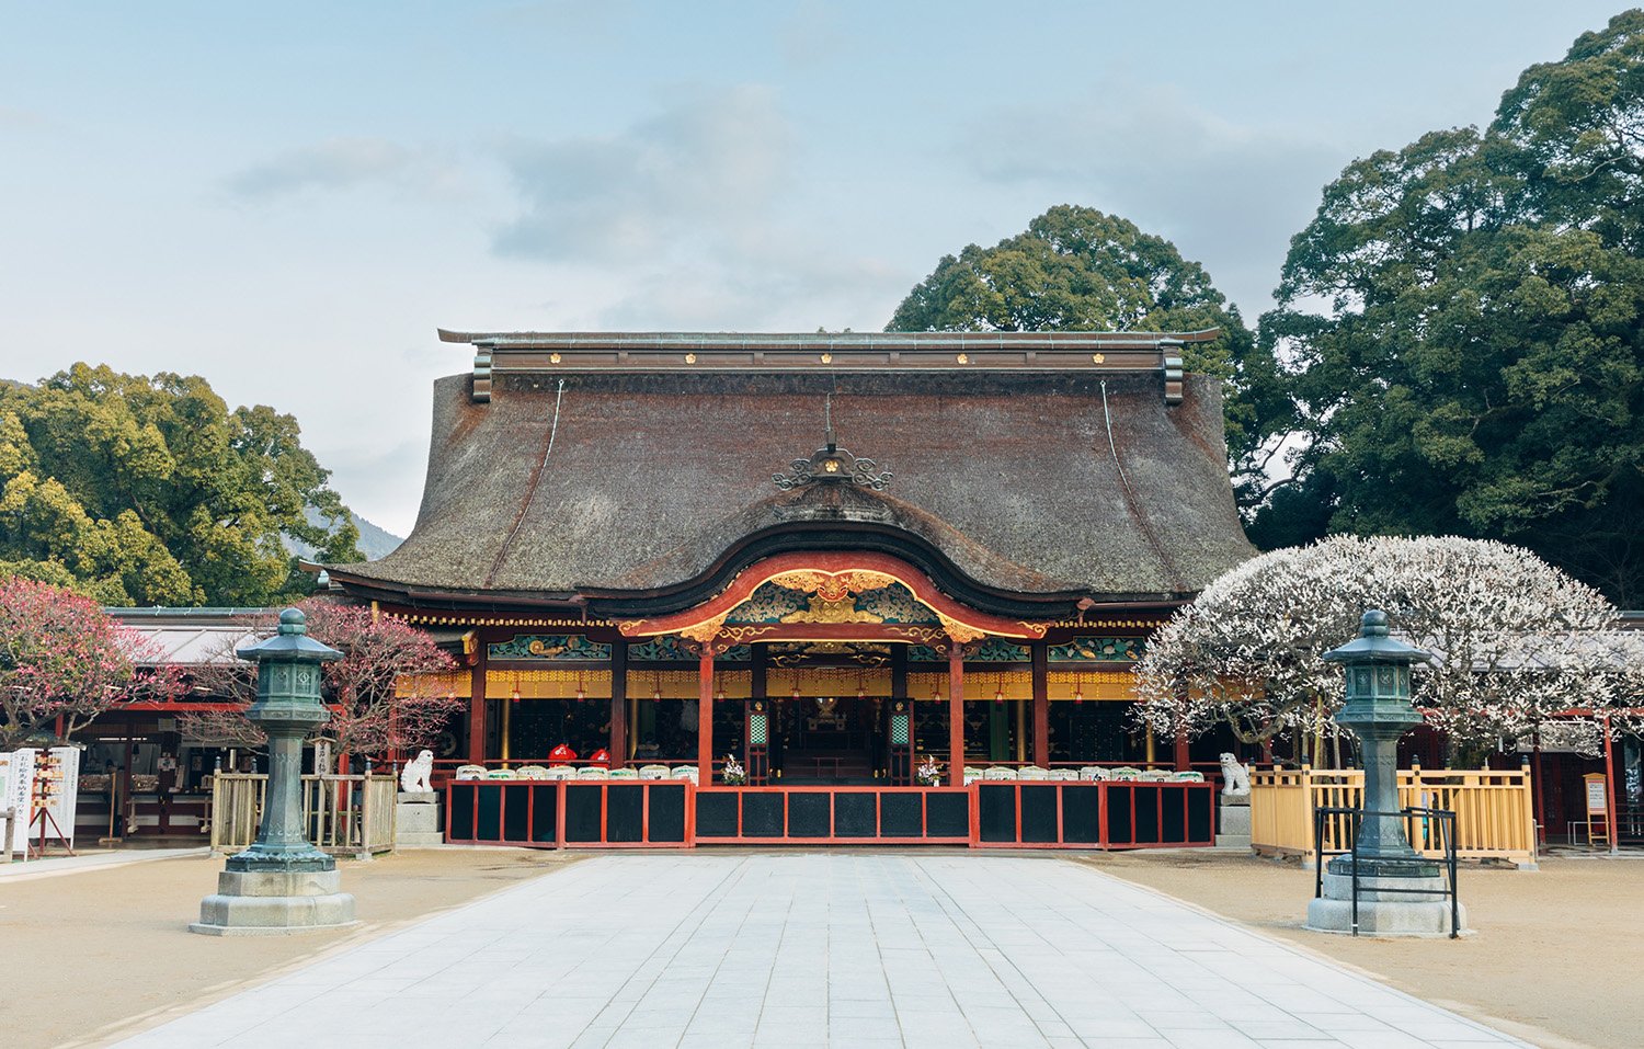
[[[329,138],[288,150],[229,176],[227,189],[242,201],[271,201],[309,189],[350,189],[363,183],[434,186],[450,169],[426,151],[385,138]]]

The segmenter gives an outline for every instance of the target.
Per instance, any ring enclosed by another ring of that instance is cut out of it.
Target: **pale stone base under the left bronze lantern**
[[[217,875],[217,893],[201,901],[201,936],[293,936],[360,924],[353,896],[339,893],[340,871],[235,871]]]

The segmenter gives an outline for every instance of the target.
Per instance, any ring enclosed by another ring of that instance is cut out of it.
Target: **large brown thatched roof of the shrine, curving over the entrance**
[[[1187,377],[1167,404],[1157,365],[1082,360],[690,372],[485,355],[488,403],[470,375],[434,386],[411,536],[330,574],[413,600],[658,610],[713,592],[760,551],[871,546],[1014,612],[1190,597],[1253,554],[1218,386]],[[822,446],[829,395],[838,446],[889,470],[884,490],[773,483]]]

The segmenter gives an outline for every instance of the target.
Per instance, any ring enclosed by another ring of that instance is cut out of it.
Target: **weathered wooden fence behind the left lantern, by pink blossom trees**
[[[256,840],[268,776],[219,773],[210,789],[212,852],[240,852]],[[393,776],[302,776],[302,822],[317,848],[332,855],[390,852],[395,847]]]

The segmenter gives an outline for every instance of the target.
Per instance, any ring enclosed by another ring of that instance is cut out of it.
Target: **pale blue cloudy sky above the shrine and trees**
[[[406,534],[457,330],[878,330],[1054,204],[1254,321],[1345,164],[1623,10],[0,0],[0,378],[204,375]]]

